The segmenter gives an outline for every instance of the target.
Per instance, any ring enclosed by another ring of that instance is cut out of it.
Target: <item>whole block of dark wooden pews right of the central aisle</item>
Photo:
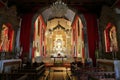
[[[108,72],[102,67],[93,67],[77,62],[71,63],[67,72],[69,80],[115,80],[115,72]]]

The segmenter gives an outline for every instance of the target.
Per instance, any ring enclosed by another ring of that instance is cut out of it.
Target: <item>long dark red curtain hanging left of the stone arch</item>
[[[21,44],[21,47],[23,47],[23,53],[21,57],[23,57],[26,54],[29,54],[32,18],[33,18],[32,13],[25,14],[22,16],[20,44]]]

